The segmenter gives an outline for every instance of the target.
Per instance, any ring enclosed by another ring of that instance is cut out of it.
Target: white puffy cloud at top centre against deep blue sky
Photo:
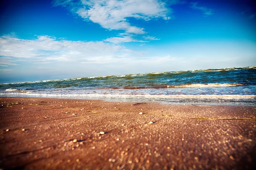
[[[159,0],[55,0],[55,6],[68,6],[80,17],[99,23],[110,30],[124,30],[128,33],[144,34],[143,28],[131,26],[128,17],[151,20],[170,19],[171,9]]]

